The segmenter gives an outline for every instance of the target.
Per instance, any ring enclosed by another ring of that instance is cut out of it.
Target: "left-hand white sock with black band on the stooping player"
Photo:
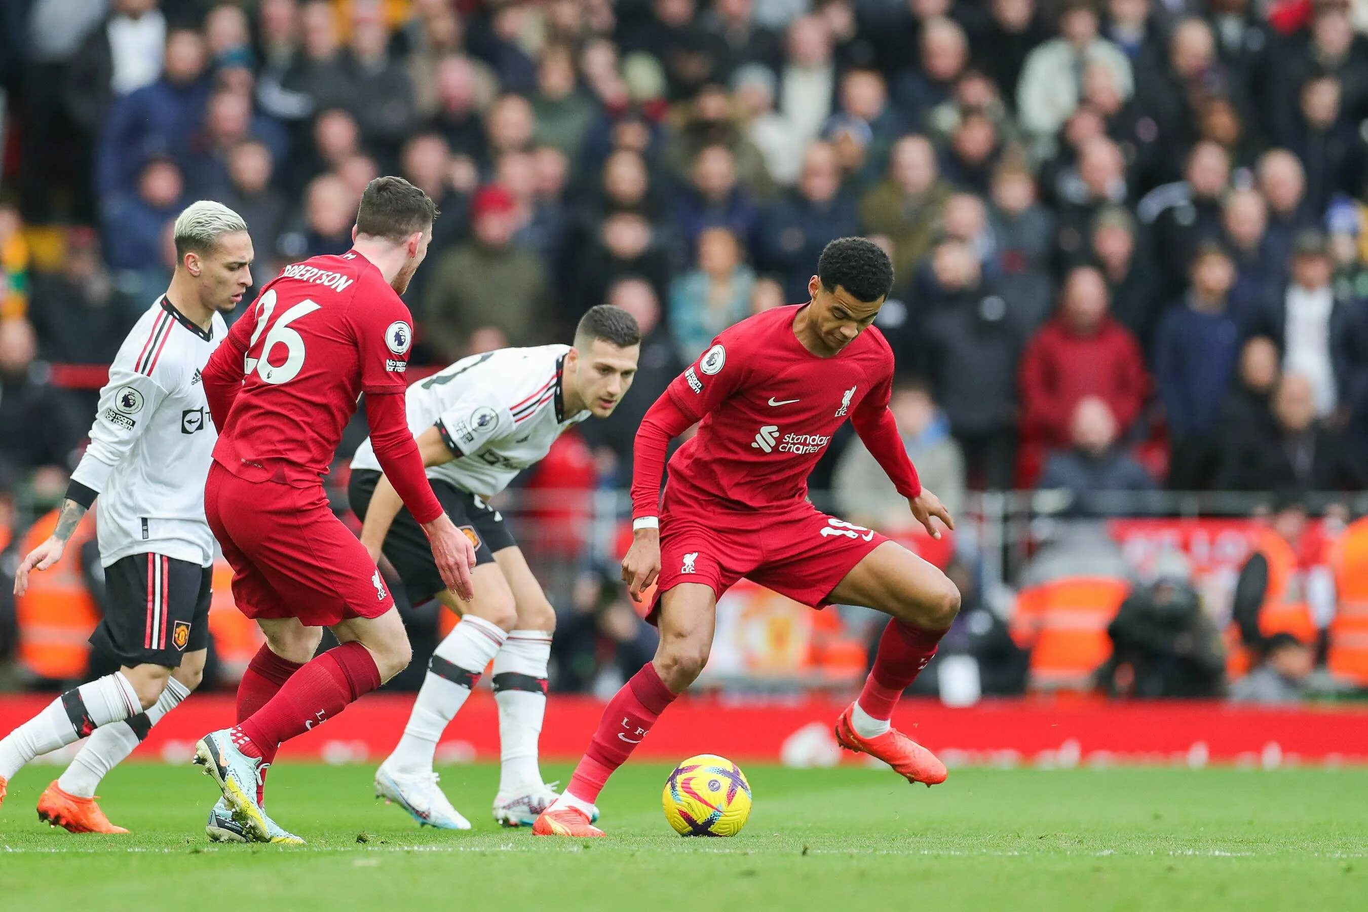
[[[401,773],[427,773],[432,768],[438,738],[506,639],[502,628],[483,618],[461,618],[432,654],[404,737],[386,763],[393,763]]]

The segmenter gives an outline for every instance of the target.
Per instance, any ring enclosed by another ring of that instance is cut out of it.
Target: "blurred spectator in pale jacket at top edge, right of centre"
[[[1053,141],[1078,107],[1082,68],[1097,62],[1116,75],[1122,97],[1133,92],[1130,60],[1097,34],[1097,11],[1089,0],[1067,0],[1059,14],[1060,37],[1030,52],[1016,85],[1022,129],[1038,144]]]

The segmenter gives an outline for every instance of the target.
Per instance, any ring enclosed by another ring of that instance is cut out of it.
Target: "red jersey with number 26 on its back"
[[[412,343],[408,306],[356,250],[287,265],[204,368],[207,391],[242,381],[213,416],[213,459],[248,481],[317,484],[360,395],[404,392]]]

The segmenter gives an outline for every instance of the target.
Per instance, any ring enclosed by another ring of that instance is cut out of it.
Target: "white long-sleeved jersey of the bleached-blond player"
[[[129,332],[100,390],[90,446],[71,480],[98,495],[100,562],[153,551],[213,563],[204,481],[218,432],[200,369],[227,335],[205,332],[166,297]]]

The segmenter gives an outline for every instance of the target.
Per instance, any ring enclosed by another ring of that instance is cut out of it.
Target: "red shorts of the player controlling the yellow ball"
[[[832,589],[888,539],[829,517],[802,500],[782,510],[672,509],[661,511],[659,596],[680,582],[702,582],[721,598],[741,577],[795,602],[822,608]]]

